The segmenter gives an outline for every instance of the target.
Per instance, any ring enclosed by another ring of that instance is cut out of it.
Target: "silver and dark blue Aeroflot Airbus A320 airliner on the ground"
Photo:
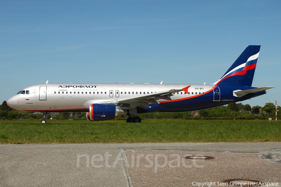
[[[103,121],[139,113],[187,112],[244,101],[274,87],[252,87],[260,46],[247,46],[225,74],[213,84],[80,84],[48,83],[28,86],[7,100],[11,108],[43,113],[86,112],[87,120]]]

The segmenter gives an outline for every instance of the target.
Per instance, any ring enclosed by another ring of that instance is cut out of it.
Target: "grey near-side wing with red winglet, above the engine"
[[[154,92],[154,93],[149,93],[149,94],[143,94],[140,96],[136,96],[136,97],[128,97],[128,98],[122,98],[122,99],[117,99],[117,100],[113,100],[113,101],[107,101],[107,102],[101,102],[101,103],[107,103],[107,104],[130,104],[131,107],[144,107],[144,108],[151,108],[148,103],[154,103],[154,104],[159,104],[159,102],[157,102],[157,100],[159,99],[165,99],[165,100],[172,100],[172,98],[170,98],[171,96],[173,96],[173,93],[177,93],[177,92],[181,92],[181,91],[185,91],[187,92],[187,89],[190,86],[187,86],[183,89],[171,89],[171,90],[166,90],[166,91],[161,91],[161,92]]]

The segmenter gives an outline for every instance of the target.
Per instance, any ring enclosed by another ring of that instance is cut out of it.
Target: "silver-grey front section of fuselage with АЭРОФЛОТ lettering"
[[[37,84],[28,86],[8,99],[9,106],[26,111],[88,111],[89,104],[134,98],[163,90],[182,89],[172,100],[196,97],[213,91],[214,85],[205,84]],[[27,94],[28,93],[28,94]],[[163,99],[157,100],[165,101]]]

